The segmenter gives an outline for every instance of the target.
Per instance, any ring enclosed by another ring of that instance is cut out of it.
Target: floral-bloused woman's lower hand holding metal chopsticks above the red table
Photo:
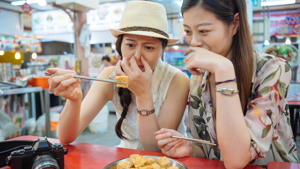
[[[186,157],[193,151],[192,143],[189,141],[171,137],[171,135],[184,137],[184,135],[175,130],[162,128],[154,134],[156,135],[155,139],[157,140],[159,149],[169,157]]]

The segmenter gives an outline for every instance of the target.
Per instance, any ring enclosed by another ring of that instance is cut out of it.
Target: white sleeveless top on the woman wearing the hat
[[[158,114],[161,110],[161,106],[166,100],[166,94],[169,85],[174,75],[179,71],[181,70],[171,66],[170,64],[163,62],[162,60],[159,60],[157,66],[153,71],[152,94],[153,94],[153,104],[155,107],[156,118],[158,118]],[[110,78],[114,79],[113,74],[110,75]],[[117,114],[117,118],[119,120],[119,118],[121,118],[123,108],[120,104],[120,97],[118,95],[117,89],[118,88],[116,88],[115,85],[115,90],[113,95],[113,105]],[[132,97],[132,101],[128,107],[126,118],[123,120],[122,127],[121,127],[123,136],[128,138],[128,140],[121,139],[121,144],[119,144],[117,147],[143,150],[140,141],[140,136],[139,136],[139,129],[138,129],[137,101],[133,93],[131,93],[131,97]],[[184,116],[183,116],[178,128],[178,132],[183,134],[185,137],[187,137],[186,131],[187,128],[184,124]]]

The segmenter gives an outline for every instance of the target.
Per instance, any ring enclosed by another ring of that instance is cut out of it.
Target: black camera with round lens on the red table
[[[32,146],[22,146],[5,159],[11,169],[64,168],[64,155],[68,149],[60,143],[51,144],[47,137],[38,138]]]

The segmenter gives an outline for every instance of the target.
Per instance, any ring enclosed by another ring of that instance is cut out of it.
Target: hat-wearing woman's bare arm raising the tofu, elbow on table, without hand
[[[98,78],[109,78],[113,67],[104,69]],[[58,121],[58,138],[62,145],[72,143],[91,123],[104,105],[112,100],[114,84],[93,81],[84,100],[67,100]]]

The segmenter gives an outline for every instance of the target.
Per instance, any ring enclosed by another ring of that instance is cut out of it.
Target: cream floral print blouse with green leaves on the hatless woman
[[[258,52],[253,54],[253,84],[244,116],[251,134],[252,161],[249,164],[266,167],[270,161],[298,163],[287,104],[290,66],[282,58]],[[199,71],[201,75],[190,78],[190,133],[195,138],[216,143],[217,146],[202,144],[206,157],[223,161],[214,128],[209,72]]]

